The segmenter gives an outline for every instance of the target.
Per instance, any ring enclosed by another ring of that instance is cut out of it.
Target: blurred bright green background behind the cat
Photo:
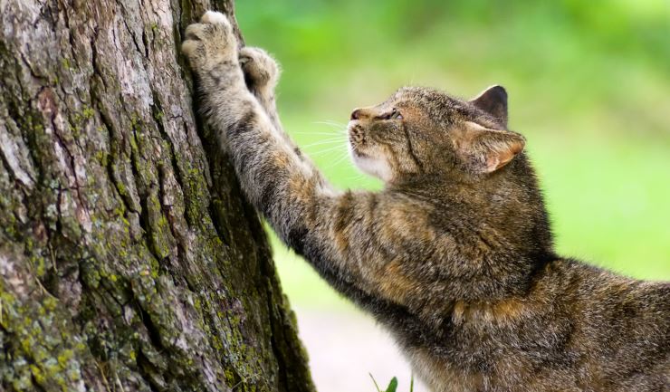
[[[510,94],[561,254],[670,279],[670,2],[240,0],[247,44],[282,63],[285,128],[340,187],[349,112],[402,85]],[[276,239],[299,307],[347,307]]]

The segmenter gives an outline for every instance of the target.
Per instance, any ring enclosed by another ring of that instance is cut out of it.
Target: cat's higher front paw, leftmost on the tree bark
[[[181,45],[196,72],[209,72],[223,62],[237,63],[237,38],[225,14],[207,11],[199,24],[190,24]]]

